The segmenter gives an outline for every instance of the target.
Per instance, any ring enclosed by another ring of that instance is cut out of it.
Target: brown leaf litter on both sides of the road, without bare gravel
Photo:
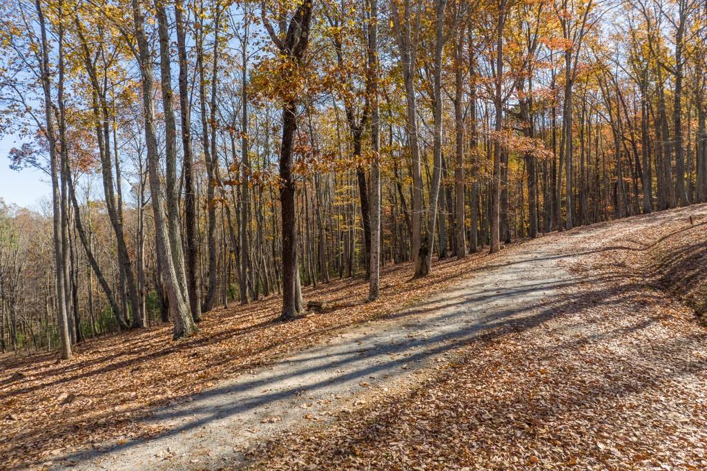
[[[359,395],[375,400],[354,400],[334,419],[312,420],[303,410],[297,427],[278,432],[284,436],[247,447],[247,465],[704,469],[707,342],[695,310],[707,286],[706,225],[707,206],[692,205],[510,244],[491,256],[436,261],[422,279],[410,278],[409,263],[387,266],[372,303],[363,302],[365,280],[334,280],[304,292],[328,302],[327,311],[287,323],[276,321],[281,299],[273,296],[213,311],[197,335],[179,342],[165,325],[86,342],[63,362],[57,354],[6,356],[0,466],[81,466],[66,456],[86,444],[110,455],[112,447],[159,437],[168,431],[146,420],[157,407],[177,407],[367,321],[402,326],[405,317],[392,316],[402,307],[469,277],[493,284],[484,279],[489,270],[549,250],[556,270],[574,278],[557,283],[560,298],[481,330],[415,381],[366,388]],[[173,461],[167,455],[160,463],[169,469]],[[185,463],[244,465],[209,455]]]

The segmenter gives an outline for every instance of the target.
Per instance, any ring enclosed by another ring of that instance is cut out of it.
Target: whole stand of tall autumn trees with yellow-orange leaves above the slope
[[[9,0],[0,346],[707,201],[696,0]]]

